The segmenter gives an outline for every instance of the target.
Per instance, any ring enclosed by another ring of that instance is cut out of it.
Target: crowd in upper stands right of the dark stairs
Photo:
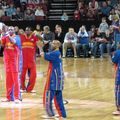
[[[95,20],[101,17],[120,16],[120,0],[78,0],[74,11],[75,20]]]

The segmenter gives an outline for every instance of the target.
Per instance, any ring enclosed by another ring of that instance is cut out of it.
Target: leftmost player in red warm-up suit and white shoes
[[[6,70],[6,99],[2,102],[10,102],[11,93],[14,86],[14,102],[20,103],[19,93],[20,86],[18,82],[18,71],[19,71],[19,50],[15,41],[17,41],[15,35],[14,27],[10,26],[8,28],[8,34],[5,37],[2,37],[1,43],[4,47],[4,64]]]

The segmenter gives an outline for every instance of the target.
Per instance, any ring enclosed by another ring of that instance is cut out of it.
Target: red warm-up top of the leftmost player
[[[13,36],[15,37],[15,36]],[[1,40],[2,45],[4,46],[4,63],[7,72],[18,72],[18,47],[11,43],[8,36],[5,36]]]

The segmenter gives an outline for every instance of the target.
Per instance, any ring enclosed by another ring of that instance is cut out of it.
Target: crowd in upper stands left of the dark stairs
[[[47,1],[45,0],[0,0],[1,20],[46,19]]]

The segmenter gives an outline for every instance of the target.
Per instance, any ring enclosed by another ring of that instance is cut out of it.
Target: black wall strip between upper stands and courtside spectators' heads
[[[31,26],[33,28],[33,30],[35,29],[36,24],[40,24],[41,28],[43,28],[43,26],[48,25],[51,28],[51,31],[54,31],[55,29],[55,25],[59,24],[62,26],[63,32],[66,33],[68,31],[69,27],[73,27],[75,29],[76,32],[78,32],[79,28],[82,25],[85,25],[87,30],[90,29],[91,25],[95,25],[96,27],[99,26],[99,24],[101,23],[100,20],[94,20],[94,21],[88,21],[88,20],[84,20],[84,21],[59,21],[59,20],[54,20],[54,21],[6,21],[4,22],[6,25],[8,26],[19,26],[19,28],[25,29],[25,27],[27,26]],[[108,23],[110,24],[110,22],[108,21]]]

